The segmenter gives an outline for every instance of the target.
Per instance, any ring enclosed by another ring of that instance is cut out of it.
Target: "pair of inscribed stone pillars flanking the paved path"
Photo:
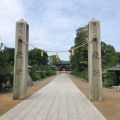
[[[93,18],[88,24],[88,73],[89,73],[89,99],[102,100],[102,72],[101,72],[101,43],[100,22]],[[22,19],[16,23],[16,44],[14,63],[13,99],[27,98],[28,81],[28,34],[29,26]],[[22,41],[24,40],[24,41]]]

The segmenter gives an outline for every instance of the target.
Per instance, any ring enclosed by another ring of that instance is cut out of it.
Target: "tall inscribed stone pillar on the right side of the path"
[[[89,73],[89,99],[102,100],[102,71],[101,71],[101,42],[100,21],[92,18],[88,24],[88,73]]]

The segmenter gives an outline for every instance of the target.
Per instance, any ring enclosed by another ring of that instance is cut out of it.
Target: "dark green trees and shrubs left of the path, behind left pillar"
[[[0,47],[0,87],[4,85],[13,86],[14,75],[14,48]],[[41,56],[41,50],[32,49],[28,52],[29,75],[32,80],[41,80],[47,76],[56,74],[48,66],[48,55],[44,52]],[[38,73],[39,72],[39,73]]]

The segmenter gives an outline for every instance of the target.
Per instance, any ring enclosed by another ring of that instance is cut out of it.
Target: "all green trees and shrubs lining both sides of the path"
[[[76,37],[74,39],[74,46],[71,48],[83,45],[88,40],[87,26],[76,30]],[[2,83],[13,85],[13,66],[14,66],[14,48],[3,47],[0,45],[0,86]],[[71,51],[70,51],[71,52]],[[112,45],[107,45],[101,42],[101,56],[102,56],[102,71],[109,69],[117,64],[120,64],[120,52],[116,52]],[[46,52],[41,56],[40,49],[32,49],[28,52],[29,75],[32,80],[40,80],[50,75],[54,75],[55,71],[49,65],[57,65],[61,63],[60,59],[56,59],[55,55],[49,56]],[[70,55],[70,67],[73,70],[72,74],[79,76],[88,81],[88,46],[74,50],[74,56]],[[112,85],[119,85],[116,82],[115,73],[107,73],[106,80],[103,77],[103,83],[106,87]]]

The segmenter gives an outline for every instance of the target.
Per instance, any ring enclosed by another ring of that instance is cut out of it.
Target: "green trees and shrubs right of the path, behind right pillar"
[[[78,47],[88,40],[87,26],[81,27],[76,30],[76,37],[74,40],[74,46],[71,48]],[[116,52],[112,45],[107,45],[101,42],[101,59],[102,59],[102,71],[109,69],[117,64],[120,64],[120,52]],[[75,49],[74,56],[70,55],[70,66],[72,68],[72,74],[81,77],[88,81],[88,45]],[[116,82],[115,73],[106,73],[106,81],[103,77],[103,83],[106,87],[118,85]],[[105,81],[105,82],[104,82]]]

